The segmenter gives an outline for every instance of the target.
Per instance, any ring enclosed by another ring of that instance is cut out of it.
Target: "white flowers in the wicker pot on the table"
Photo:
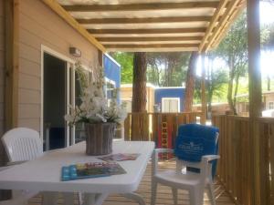
[[[70,114],[65,116],[69,124],[77,123],[121,123],[126,117],[125,105],[118,105],[116,98],[111,99],[110,106],[103,90],[104,77],[86,87],[81,97],[81,105],[70,106]]]

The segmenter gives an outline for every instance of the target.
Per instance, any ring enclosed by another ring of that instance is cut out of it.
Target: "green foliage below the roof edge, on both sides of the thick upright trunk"
[[[133,54],[114,52],[110,55],[121,65],[121,83],[132,83]],[[147,53],[147,82],[160,87],[180,87],[185,80],[189,54]]]

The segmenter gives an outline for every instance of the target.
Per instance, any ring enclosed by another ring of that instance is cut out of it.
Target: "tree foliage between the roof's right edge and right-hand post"
[[[240,15],[229,29],[227,36],[213,52],[222,58],[229,68],[227,102],[234,114],[240,77],[246,77],[248,70],[248,29],[246,13]]]

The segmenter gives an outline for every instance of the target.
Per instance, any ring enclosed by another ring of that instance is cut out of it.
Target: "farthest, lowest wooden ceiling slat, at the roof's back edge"
[[[104,45],[106,48],[150,48],[150,47],[198,47],[199,44],[149,44],[149,45],[134,45],[134,44],[128,44],[128,45]]]

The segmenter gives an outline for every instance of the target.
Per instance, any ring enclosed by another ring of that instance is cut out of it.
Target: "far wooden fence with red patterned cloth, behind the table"
[[[200,113],[129,113],[124,121],[125,140],[156,141],[167,131],[174,139],[179,125],[195,123]]]

